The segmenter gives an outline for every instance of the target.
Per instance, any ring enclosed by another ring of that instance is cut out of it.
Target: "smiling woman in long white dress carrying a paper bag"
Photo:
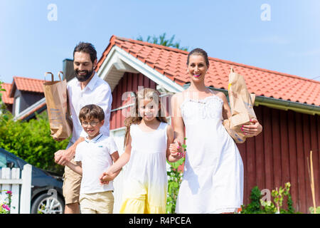
[[[233,213],[243,198],[243,165],[237,145],[223,127],[230,117],[225,94],[206,88],[208,55],[201,48],[188,54],[191,85],[172,97],[175,142],[183,143],[186,163],[176,202],[177,213]],[[244,125],[247,137],[262,131],[260,123]]]

